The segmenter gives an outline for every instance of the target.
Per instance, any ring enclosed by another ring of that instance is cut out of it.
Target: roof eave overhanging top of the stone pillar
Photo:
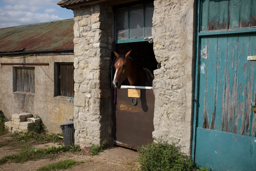
[[[109,5],[120,5],[130,2],[135,2],[139,0],[63,0],[60,1],[57,5],[60,5],[63,8],[73,9],[82,5],[91,5],[96,3],[109,4]]]

